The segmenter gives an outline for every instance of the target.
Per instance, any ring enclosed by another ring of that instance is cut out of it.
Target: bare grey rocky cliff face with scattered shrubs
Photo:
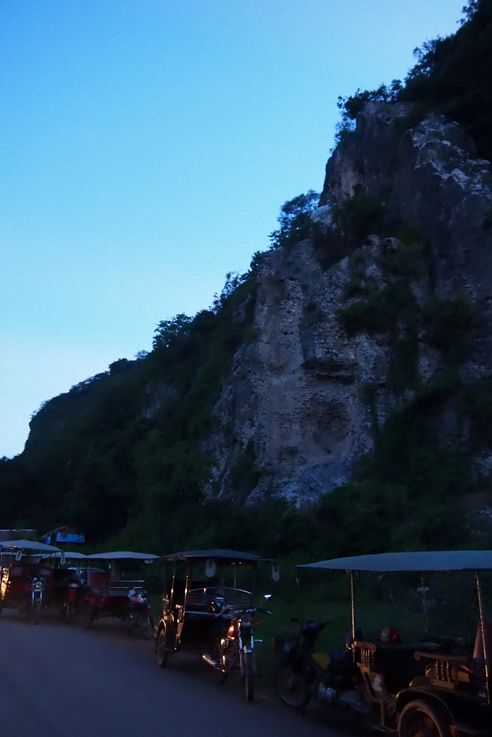
[[[445,368],[449,351],[426,327],[430,304],[466,300],[473,340],[454,368],[465,382],[490,374],[490,164],[458,125],[436,116],[411,127],[411,114],[402,104],[367,105],[328,161],[313,238],[263,258],[257,337],[236,353],[214,410],[210,493],[305,504],[346,481],[375,425]],[[384,227],[350,240],[340,213],[360,198],[384,212]],[[341,244],[345,255],[330,264]],[[382,297],[396,307],[366,324]],[[361,324],[350,323],[354,315]],[[406,384],[407,367],[395,364],[405,340],[415,360]],[[436,427],[449,443],[467,432],[451,405]]]

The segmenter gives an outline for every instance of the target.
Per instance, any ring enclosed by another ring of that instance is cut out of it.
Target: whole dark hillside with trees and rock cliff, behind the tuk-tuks
[[[155,549],[490,544],[492,109],[469,66],[443,86],[470,47],[488,68],[487,8],[404,86],[344,102],[319,203],[286,203],[209,310],[40,409],[0,463],[4,526]]]

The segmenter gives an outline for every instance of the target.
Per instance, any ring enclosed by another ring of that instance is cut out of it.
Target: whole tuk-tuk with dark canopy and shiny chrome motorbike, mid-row
[[[262,559],[253,553],[215,549],[178,552],[164,560],[165,590],[155,645],[158,666],[165,667],[181,650],[198,651],[219,681],[239,670],[246,699],[252,701],[253,591]]]

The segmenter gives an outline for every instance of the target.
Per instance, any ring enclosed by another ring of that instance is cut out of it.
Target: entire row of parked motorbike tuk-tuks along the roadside
[[[29,555],[13,548],[7,551],[10,561],[2,561],[0,610],[3,605],[19,606],[36,622],[44,607],[54,605],[67,622],[79,615],[90,627],[99,617],[118,617],[129,629],[151,637],[153,623],[142,582],[117,575],[117,563],[157,556],[103,553],[50,573],[46,557],[36,559],[32,547],[25,552]],[[183,551],[163,560],[162,614],[154,643],[157,665],[169,667],[180,652],[195,651],[219,683],[237,672],[246,700],[253,701],[256,618],[270,613],[264,605],[269,595],[257,605],[255,577],[260,565],[273,561],[222,549]],[[108,563],[111,570],[99,567]],[[482,573],[492,571],[492,551],[384,553],[299,566],[304,569],[348,574],[350,632],[342,647],[330,653],[317,648],[326,621],[292,618],[297,633],[274,638],[279,656],[274,686],[287,706],[302,709],[316,699],[329,708],[349,709],[366,725],[397,737],[492,737],[492,619],[486,616],[482,581]],[[445,571],[469,571],[474,577],[478,625],[470,652],[464,651],[460,638],[430,634],[427,622],[421,636],[411,641],[402,640],[393,628],[384,628],[377,637],[364,635],[357,622],[357,573],[392,572],[408,578]],[[276,580],[275,565],[272,572]]]

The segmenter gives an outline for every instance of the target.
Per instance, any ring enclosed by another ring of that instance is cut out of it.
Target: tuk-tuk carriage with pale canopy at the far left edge
[[[30,615],[37,624],[52,587],[48,557],[60,552],[53,545],[32,540],[6,540],[1,545],[0,612],[13,607]]]

